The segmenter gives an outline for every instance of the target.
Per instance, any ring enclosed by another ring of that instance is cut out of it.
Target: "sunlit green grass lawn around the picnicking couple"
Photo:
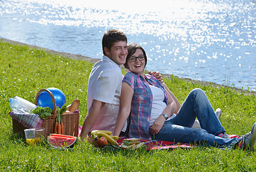
[[[27,146],[24,138],[12,132],[9,98],[22,97],[34,102],[42,88],[57,87],[70,104],[80,99],[80,125],[86,108],[87,80],[93,64],[1,42],[0,40],[0,171],[255,171],[255,151],[194,148],[174,151],[99,151],[88,143],[78,142],[73,151],[49,148],[46,143]],[[123,70],[125,73],[125,71]],[[232,88],[201,85],[177,77],[165,78],[176,97],[202,88],[214,109],[221,108],[220,118],[229,134],[242,135],[255,123],[255,95]]]

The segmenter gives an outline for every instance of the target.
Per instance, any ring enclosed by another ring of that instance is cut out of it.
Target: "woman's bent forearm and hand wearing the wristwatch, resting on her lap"
[[[171,97],[170,94],[167,93],[168,96],[168,104],[166,105],[166,108],[163,110],[163,113],[171,117],[171,115],[174,114],[174,111],[176,110],[176,102]],[[166,118],[164,118],[163,115],[158,116],[158,118],[153,122],[153,125],[151,126],[151,134],[156,135],[161,128],[163,127],[163,123],[166,121]]]

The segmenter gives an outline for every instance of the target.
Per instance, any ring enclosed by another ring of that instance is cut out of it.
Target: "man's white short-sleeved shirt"
[[[105,102],[105,105],[101,108],[91,130],[113,132],[115,129],[120,106],[122,79],[123,75],[119,65],[110,58],[103,56],[103,59],[94,65],[88,82],[87,110],[90,109],[93,99]]]

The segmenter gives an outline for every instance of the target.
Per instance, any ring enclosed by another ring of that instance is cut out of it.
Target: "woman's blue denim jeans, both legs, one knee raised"
[[[199,120],[202,129],[191,128],[195,119]],[[219,138],[216,135],[225,132],[217,115],[214,113],[207,95],[201,89],[192,90],[176,117],[167,120],[157,135],[152,139],[179,143],[196,143],[214,147],[231,148],[239,138]]]

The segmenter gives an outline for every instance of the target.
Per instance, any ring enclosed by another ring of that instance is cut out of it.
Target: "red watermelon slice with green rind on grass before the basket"
[[[47,137],[47,142],[49,145],[51,145],[53,148],[68,148],[72,149],[74,148],[74,144],[77,141],[77,137],[73,137],[68,135],[66,137],[65,135],[49,135]]]

